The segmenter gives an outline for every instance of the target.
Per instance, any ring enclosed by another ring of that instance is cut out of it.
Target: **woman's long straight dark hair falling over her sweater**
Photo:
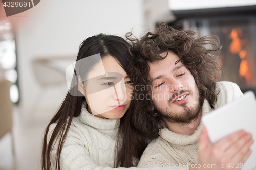
[[[129,75],[128,65],[131,60],[129,48],[130,44],[121,37],[99,34],[87,38],[81,43],[76,61],[98,53],[100,53],[101,58],[105,56],[112,56]],[[75,88],[77,88],[77,86],[75,86],[74,89]],[[57,146],[57,155],[55,158],[55,168],[60,170],[60,154],[63,148],[63,144],[65,142],[73,117],[77,117],[81,114],[82,102],[84,100],[84,96],[73,96],[68,92],[65,100],[63,100],[61,106],[59,107],[59,110],[48,124],[45,130],[42,147],[43,170],[50,170],[52,168],[50,155],[52,147],[55,144],[57,138],[59,143]],[[139,160],[146,147],[145,138],[137,133],[136,129],[130,125],[132,105],[133,104],[131,104],[129,110],[120,120],[115,152],[115,167],[132,167],[136,165],[138,161],[135,160]],[[54,128],[50,139],[47,140],[49,127],[53,123],[57,123],[56,127]]]

